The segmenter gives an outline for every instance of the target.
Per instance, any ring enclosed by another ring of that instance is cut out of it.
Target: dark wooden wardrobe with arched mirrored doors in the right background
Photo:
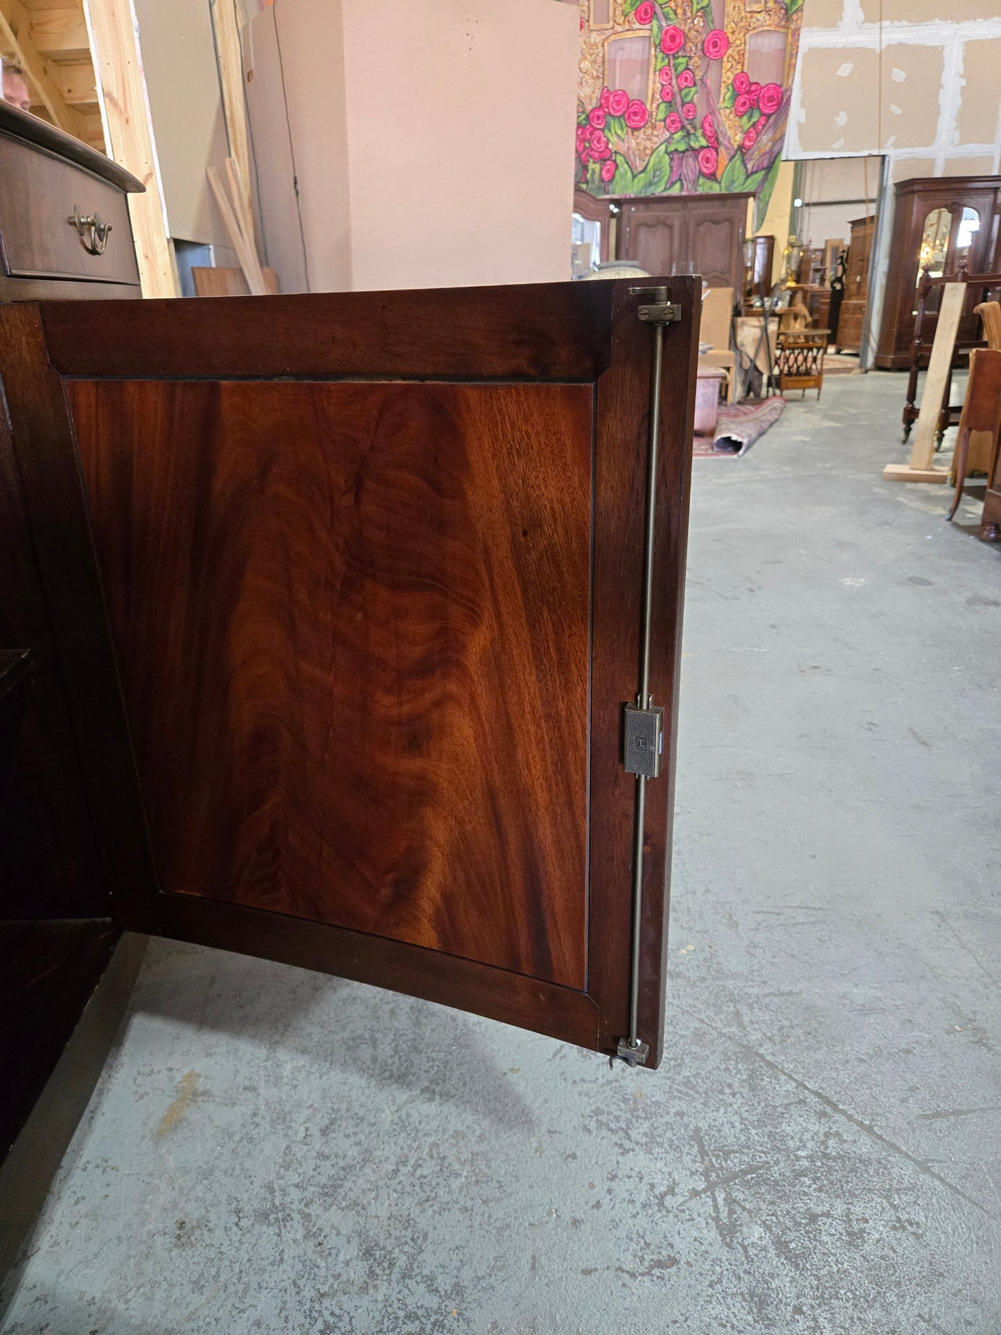
[[[934,176],[897,182],[894,187],[890,264],[886,272],[880,346],[876,364],[902,370],[910,364],[917,315],[917,284],[922,270],[933,278],[997,268],[1001,176]],[[850,258],[849,258],[850,267]],[[845,296],[848,298],[848,292]],[[926,303],[922,342],[932,343],[938,319],[940,290]],[[977,338],[980,300],[970,292],[957,340]]]

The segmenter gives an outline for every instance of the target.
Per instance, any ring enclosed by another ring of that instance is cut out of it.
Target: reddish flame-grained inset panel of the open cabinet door
[[[69,398],[164,890],[583,988],[593,390]]]

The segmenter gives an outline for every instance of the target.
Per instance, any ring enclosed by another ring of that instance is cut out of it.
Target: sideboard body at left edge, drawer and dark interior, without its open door
[[[125,195],[141,190],[103,154],[0,101],[0,303],[73,299],[80,340],[95,299],[137,307]],[[56,653],[5,421],[0,571],[3,1266],[87,1105],[143,945],[112,921],[69,717],[75,669]]]

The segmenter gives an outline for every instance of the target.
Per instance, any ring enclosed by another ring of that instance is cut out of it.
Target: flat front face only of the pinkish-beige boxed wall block
[[[383,0],[378,13],[344,0],[354,286],[569,278],[577,9]]]

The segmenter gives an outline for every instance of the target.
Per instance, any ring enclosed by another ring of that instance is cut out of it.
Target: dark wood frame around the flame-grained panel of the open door
[[[665,331],[651,690],[665,766],[647,797],[639,1031],[663,1043],[677,689],[698,312],[691,278],[663,279]],[[621,762],[639,661],[649,326],[629,282],[211,302],[0,307],[0,379],[37,566],[77,737],[115,921],[140,932],[336,973],[614,1052],[627,1032],[635,782]],[[87,338],[80,338],[85,324]],[[589,968],[585,991],[422,947],[236,904],[163,893],[149,846],[65,382],[458,379],[594,386]]]

